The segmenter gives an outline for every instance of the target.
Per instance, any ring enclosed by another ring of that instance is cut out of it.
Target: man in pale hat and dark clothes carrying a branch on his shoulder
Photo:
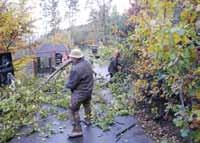
[[[73,138],[83,135],[79,116],[81,105],[83,105],[85,110],[86,125],[91,124],[90,101],[94,80],[92,67],[89,62],[84,59],[79,49],[72,50],[69,57],[72,62],[72,69],[66,88],[69,88],[72,92],[70,111],[73,120],[73,130],[71,134],[69,134],[69,138]]]

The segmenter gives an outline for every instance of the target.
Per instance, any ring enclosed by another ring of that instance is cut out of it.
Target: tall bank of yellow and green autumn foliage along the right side
[[[126,38],[129,50],[122,48],[124,60],[132,63],[126,68],[136,102],[147,105],[152,118],[172,120],[194,142],[200,141],[198,4],[135,0],[127,14],[134,25]]]

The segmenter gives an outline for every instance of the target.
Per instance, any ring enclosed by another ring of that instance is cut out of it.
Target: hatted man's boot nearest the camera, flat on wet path
[[[80,116],[78,112],[72,112],[72,117],[74,119],[72,132],[69,134],[69,138],[76,138],[83,136],[83,132],[80,124]]]

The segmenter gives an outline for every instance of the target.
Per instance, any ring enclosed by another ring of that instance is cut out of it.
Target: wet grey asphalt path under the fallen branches
[[[95,65],[94,70],[97,72],[98,76],[109,78],[106,76],[108,74],[107,67]],[[109,91],[102,91],[102,94],[105,95],[108,92]],[[67,112],[60,108],[56,110],[58,110],[58,112]],[[83,114],[81,114],[81,116],[82,115]],[[70,121],[61,121],[55,116],[49,115],[40,123],[40,127],[51,126],[50,135],[47,133],[49,131],[44,131],[44,134],[36,132],[28,136],[15,137],[9,143],[153,143],[151,138],[144,133],[141,126],[137,124],[137,120],[134,116],[116,117],[115,124],[110,127],[109,131],[105,132],[96,126],[86,127],[83,123],[81,124],[84,134],[83,137],[68,139],[67,134],[70,133],[72,129]],[[116,137],[118,133],[130,125],[133,125],[133,127],[118,138]]]

